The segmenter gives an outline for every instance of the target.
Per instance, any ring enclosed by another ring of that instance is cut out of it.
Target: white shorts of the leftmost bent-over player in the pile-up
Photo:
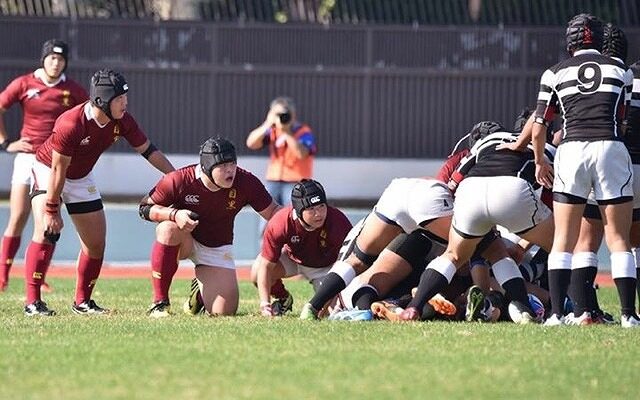
[[[425,221],[453,214],[453,196],[434,179],[397,178],[384,190],[374,211],[411,233]]]

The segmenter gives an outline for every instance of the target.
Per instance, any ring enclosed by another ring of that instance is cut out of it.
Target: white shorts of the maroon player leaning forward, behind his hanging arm
[[[34,161],[33,163],[33,185],[31,191],[46,191],[49,185],[51,168]],[[96,187],[93,179],[93,172],[80,179],[66,179],[62,189],[62,201],[65,204],[84,203],[88,201],[100,200],[100,191]]]

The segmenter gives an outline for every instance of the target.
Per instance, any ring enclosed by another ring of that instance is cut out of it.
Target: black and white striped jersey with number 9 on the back
[[[540,78],[536,118],[562,113],[562,142],[622,140],[618,123],[631,101],[633,73],[597,50],[578,50]],[[562,143],[561,142],[561,143]]]

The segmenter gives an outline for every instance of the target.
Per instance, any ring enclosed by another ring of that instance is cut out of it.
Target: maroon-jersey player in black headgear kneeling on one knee
[[[269,219],[278,205],[252,173],[238,168],[227,139],[210,138],[200,147],[200,163],[165,175],[140,204],[140,216],[157,222],[151,250],[152,317],[170,314],[169,287],[178,260],[189,258],[206,311],[233,315],[238,282],[233,261],[233,222],[250,205]]]

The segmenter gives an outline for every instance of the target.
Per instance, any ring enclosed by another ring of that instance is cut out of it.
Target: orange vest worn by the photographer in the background
[[[300,125],[293,134],[297,139],[311,129],[307,125]],[[280,135],[286,133],[276,132],[275,127],[269,133],[269,165],[267,167],[267,180],[282,182],[298,182],[304,178],[313,177],[313,159],[309,154],[305,158],[298,158],[295,151],[287,146],[286,142],[281,146],[276,146]]]

